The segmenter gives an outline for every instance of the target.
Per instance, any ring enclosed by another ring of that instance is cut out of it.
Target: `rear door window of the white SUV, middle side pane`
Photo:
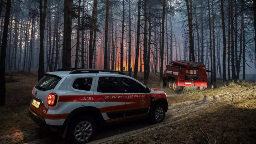
[[[97,92],[120,93],[116,77],[99,77]]]

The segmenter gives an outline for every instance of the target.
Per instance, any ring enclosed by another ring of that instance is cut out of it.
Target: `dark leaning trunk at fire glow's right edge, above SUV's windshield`
[[[136,56],[135,56],[135,64],[134,64],[134,74],[133,78],[137,79],[137,72],[139,66],[139,49],[140,49],[140,3],[138,0],[138,19],[137,19],[137,44],[136,44]],[[131,68],[129,67],[129,75],[131,73]]]

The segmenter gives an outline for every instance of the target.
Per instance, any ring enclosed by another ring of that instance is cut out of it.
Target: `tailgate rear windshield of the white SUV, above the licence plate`
[[[45,75],[35,86],[40,91],[48,91],[55,88],[61,78],[59,76]]]

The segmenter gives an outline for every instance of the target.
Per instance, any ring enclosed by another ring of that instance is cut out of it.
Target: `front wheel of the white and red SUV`
[[[151,121],[153,124],[161,123],[165,117],[165,108],[162,103],[157,103],[152,110]]]

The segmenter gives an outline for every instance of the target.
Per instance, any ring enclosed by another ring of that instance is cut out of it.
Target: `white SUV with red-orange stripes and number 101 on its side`
[[[165,92],[123,72],[61,68],[35,85],[29,115],[37,125],[62,129],[63,137],[81,144],[102,124],[146,117],[160,123],[167,109]]]

